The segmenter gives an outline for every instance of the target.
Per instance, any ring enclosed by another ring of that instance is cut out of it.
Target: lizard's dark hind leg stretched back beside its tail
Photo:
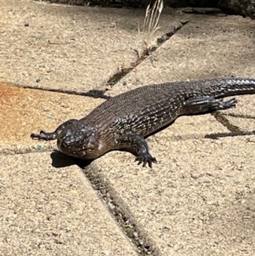
[[[199,114],[212,111],[226,110],[235,107],[237,100],[232,98],[224,101],[222,99],[216,100],[213,97],[195,96],[184,101],[184,114]]]

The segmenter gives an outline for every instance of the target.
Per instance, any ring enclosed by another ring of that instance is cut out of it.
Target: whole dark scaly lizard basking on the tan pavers
[[[41,131],[31,138],[58,139],[59,150],[81,159],[95,159],[107,151],[135,148],[135,161],[151,168],[144,136],[182,115],[202,114],[235,107],[235,98],[255,94],[255,78],[221,78],[148,85],[106,100],[81,120],[71,119],[53,133]]]

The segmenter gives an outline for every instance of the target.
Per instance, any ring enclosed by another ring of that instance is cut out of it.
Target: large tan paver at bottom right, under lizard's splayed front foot
[[[166,133],[150,141],[158,160],[152,170],[136,166],[123,152],[94,164],[161,255],[254,255],[255,160],[249,138],[171,141]]]

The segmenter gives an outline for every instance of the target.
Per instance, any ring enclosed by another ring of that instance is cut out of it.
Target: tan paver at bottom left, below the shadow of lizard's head
[[[137,255],[79,168],[48,158],[0,156],[0,254]]]

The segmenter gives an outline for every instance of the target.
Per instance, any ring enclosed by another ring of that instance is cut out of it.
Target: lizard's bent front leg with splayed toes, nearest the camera
[[[143,167],[148,163],[152,167],[152,162],[156,162],[156,158],[150,155],[149,146],[144,137],[139,134],[125,134],[117,139],[117,146],[120,148],[134,147],[138,153],[135,161],[138,164],[143,162]]]

